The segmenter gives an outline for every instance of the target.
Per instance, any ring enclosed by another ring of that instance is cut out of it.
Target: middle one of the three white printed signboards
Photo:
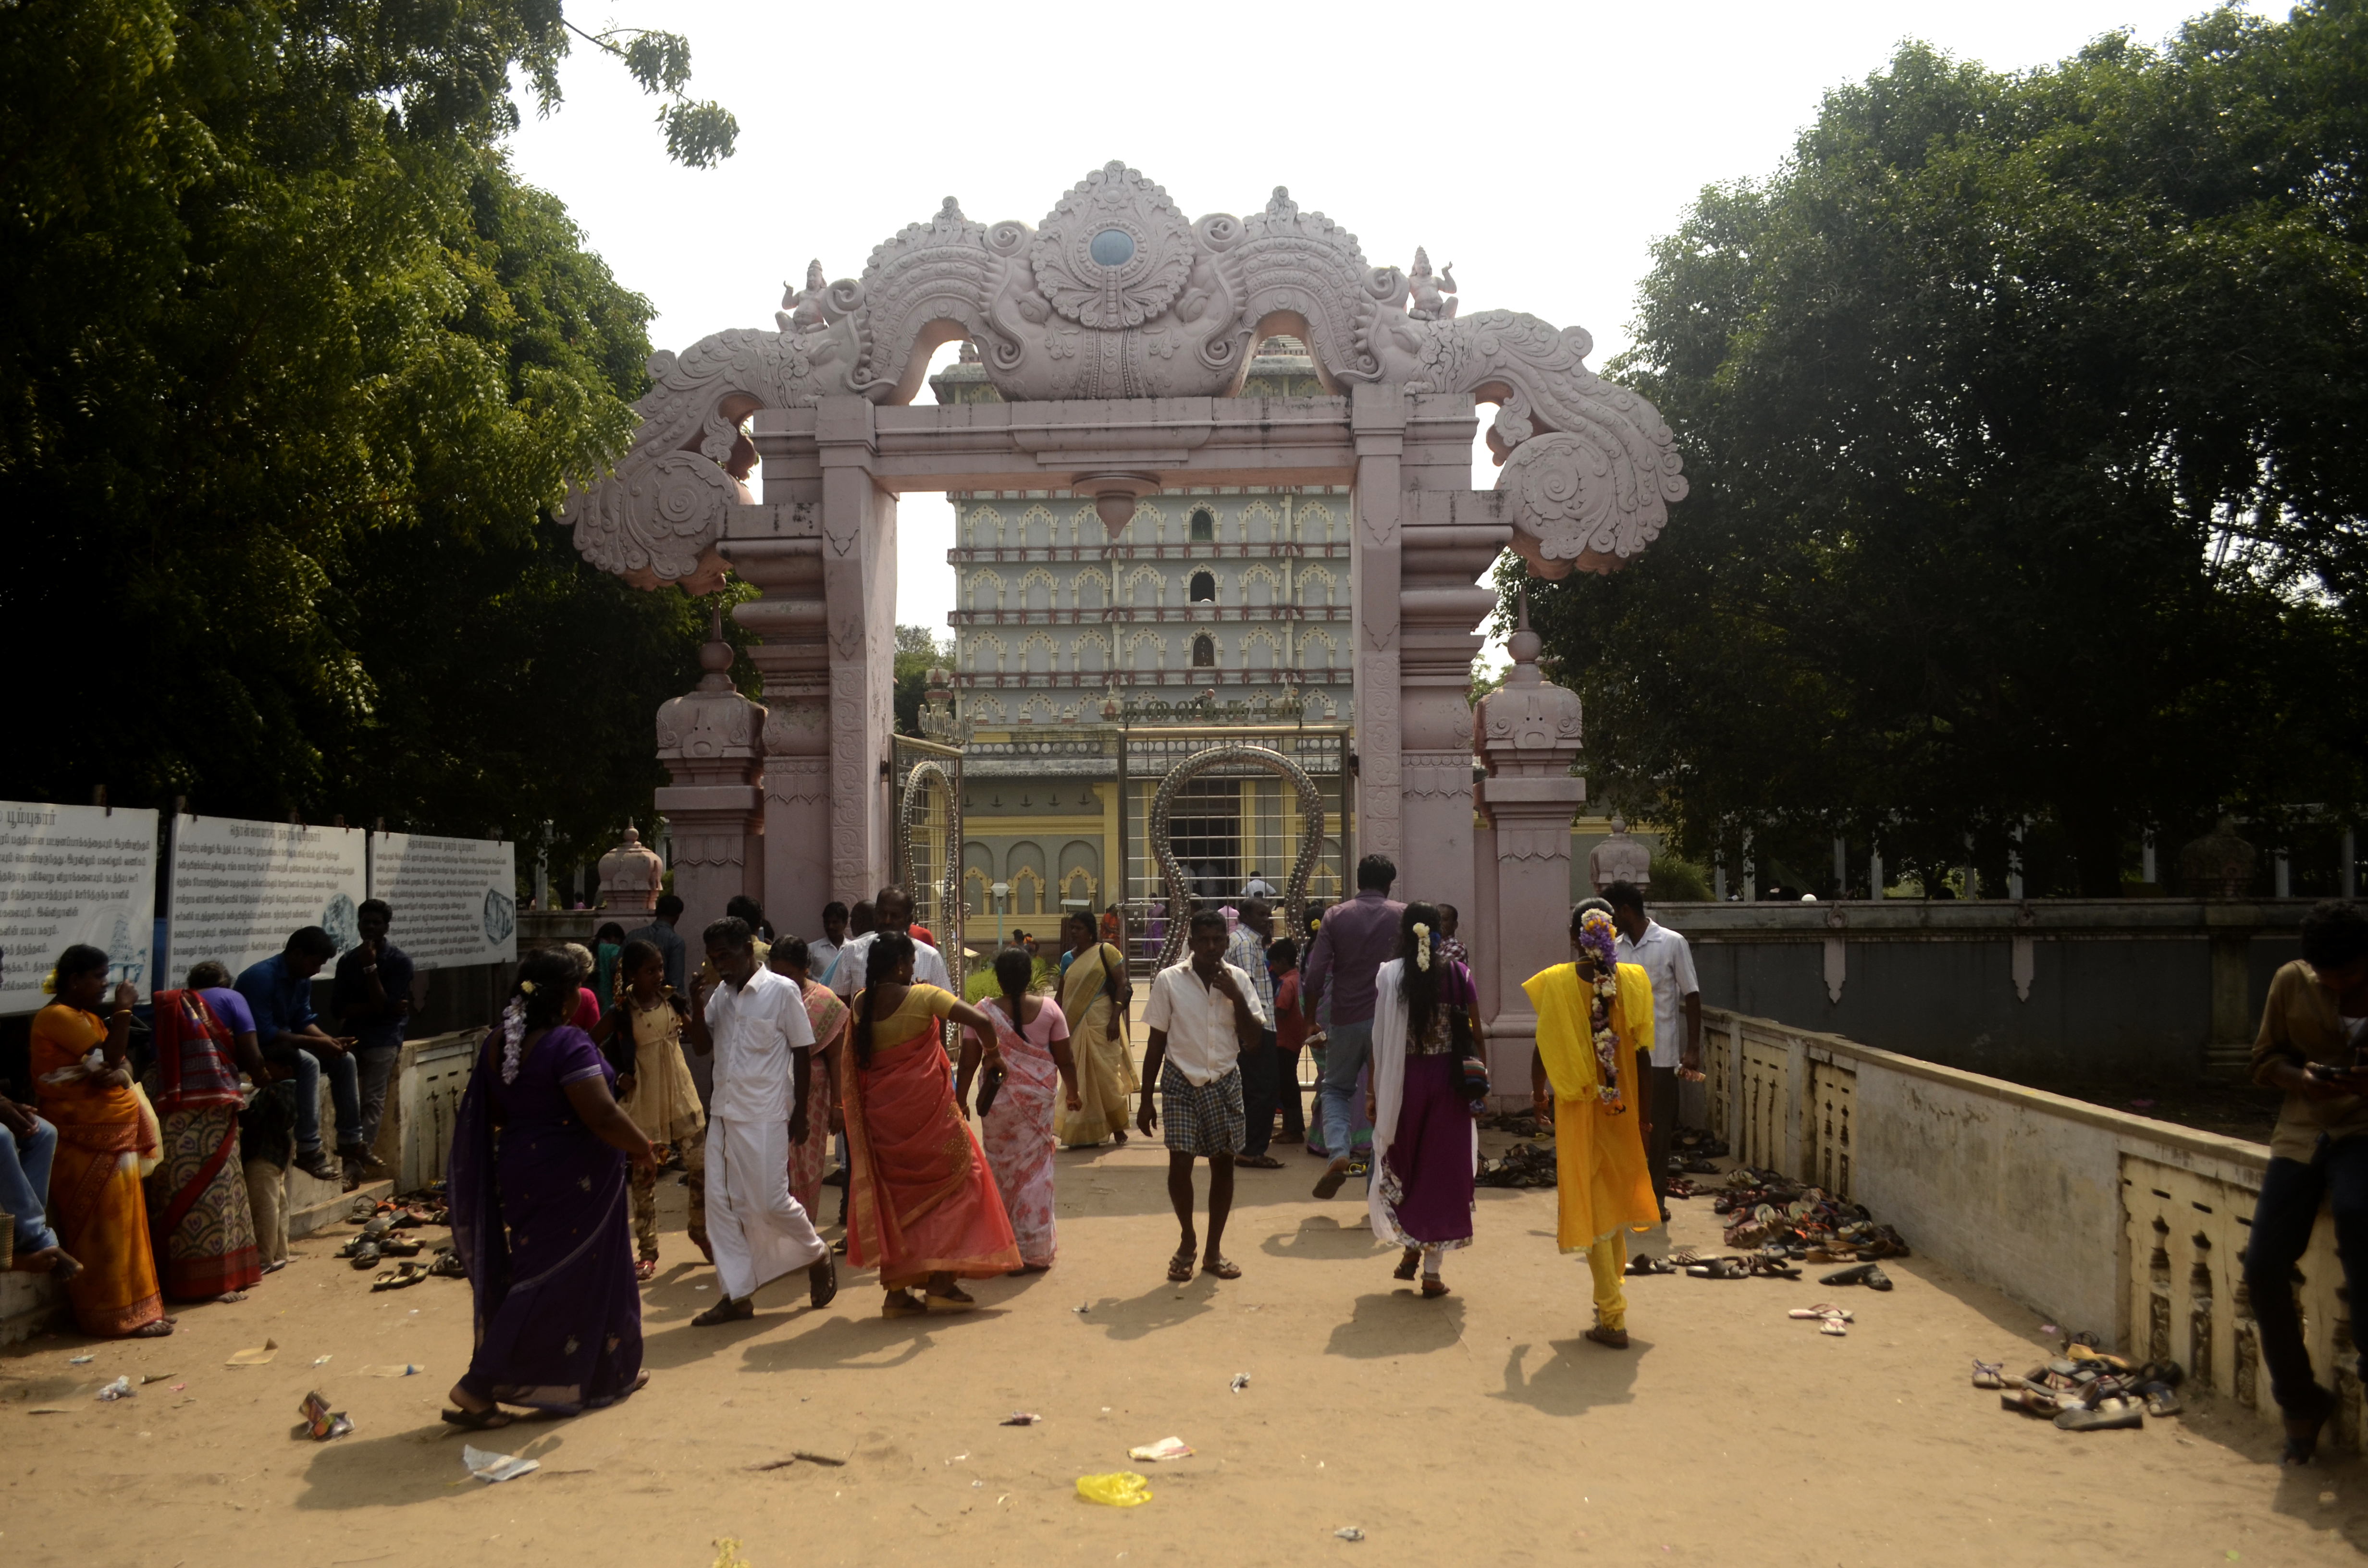
[[[339,952],[362,940],[367,838],[358,827],[175,817],[168,893],[175,983],[206,959],[237,978],[287,947],[301,926],[327,931]]]

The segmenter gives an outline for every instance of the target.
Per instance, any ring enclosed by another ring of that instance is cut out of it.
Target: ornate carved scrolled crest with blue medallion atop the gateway
[[[644,587],[722,583],[718,542],[755,450],[760,407],[829,396],[912,403],[931,353],[969,339],[1006,403],[1231,396],[1255,343],[1300,336],[1328,393],[1390,384],[1497,403],[1489,448],[1518,550],[1542,576],[1610,571],[1686,495],[1650,403],[1587,369],[1594,336],[1516,310],[1456,315],[1454,279],[1373,268],[1357,237],[1274,187],[1250,218],[1186,220],[1125,163],[1080,180],[1044,223],[973,223],[952,197],[871,251],[860,279],[784,287],[774,329],[734,329],[649,358],[642,429],[564,516],[594,566]],[[1151,464],[1158,467],[1158,464]],[[1125,523],[1158,488],[1144,452],[1077,452],[1070,486]]]

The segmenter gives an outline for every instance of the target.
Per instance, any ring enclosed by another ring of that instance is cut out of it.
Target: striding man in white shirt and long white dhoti
[[[807,1300],[838,1296],[831,1248],[789,1194],[789,1149],[805,1139],[815,1028],[796,981],[755,962],[748,921],[706,928],[718,981],[699,981],[691,1049],[715,1052],[708,1101],[708,1246],[722,1300],[691,1319],[701,1329],[755,1317],[760,1286],[805,1270]]]

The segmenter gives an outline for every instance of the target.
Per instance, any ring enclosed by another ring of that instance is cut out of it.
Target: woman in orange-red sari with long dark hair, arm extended
[[[871,938],[843,1075],[848,1262],[879,1267],[883,1317],[969,1312],[978,1300],[954,1279],[1021,1267],[969,1106],[954,1099],[940,1018],[995,1037],[995,1021],[954,992],[912,983],[909,936]]]

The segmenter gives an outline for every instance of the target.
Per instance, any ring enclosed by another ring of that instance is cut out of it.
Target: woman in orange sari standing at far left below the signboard
[[[123,1047],[130,1040],[130,981],[116,985],[102,1023],[107,955],[76,943],[57,957],[57,1002],[33,1016],[33,1080],[40,1113],[57,1127],[50,1168],[50,1225],[83,1272],[66,1281],[73,1322],[99,1338],[156,1338],[173,1331],[156,1289],[140,1156],[156,1158],[156,1130],[140,1113]],[[97,1049],[99,1066],[83,1059]]]

